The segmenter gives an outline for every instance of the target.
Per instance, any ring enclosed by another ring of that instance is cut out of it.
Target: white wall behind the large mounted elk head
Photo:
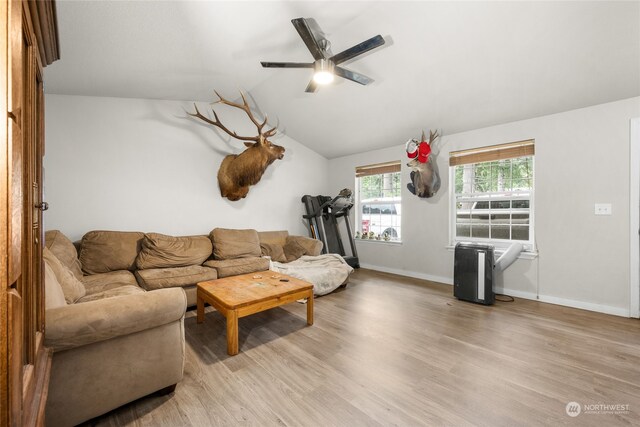
[[[327,159],[282,136],[272,142],[286,148],[284,159],[267,168],[244,200],[223,199],[218,167],[244,146],[187,118],[191,103],[48,94],[45,107],[45,228],[72,240],[95,229],[306,234],[300,198],[325,193]],[[229,128],[255,135],[243,112],[226,106],[216,111]]]

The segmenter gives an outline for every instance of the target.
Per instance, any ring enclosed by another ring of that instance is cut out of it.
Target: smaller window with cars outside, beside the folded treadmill
[[[399,241],[401,193],[400,161],[357,167],[356,231]]]

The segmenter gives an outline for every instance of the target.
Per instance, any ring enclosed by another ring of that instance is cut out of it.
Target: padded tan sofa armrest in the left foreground
[[[45,345],[54,351],[105,341],[162,326],[184,317],[181,288],[160,289],[46,311]]]

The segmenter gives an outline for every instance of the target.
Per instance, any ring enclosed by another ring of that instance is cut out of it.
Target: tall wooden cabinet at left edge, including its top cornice
[[[42,67],[58,58],[55,5],[0,1],[0,31],[0,425],[42,425]]]

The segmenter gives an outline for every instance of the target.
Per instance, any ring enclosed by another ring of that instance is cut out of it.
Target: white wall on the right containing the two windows
[[[446,249],[450,243],[448,153],[535,139],[539,256],[519,259],[507,270],[505,292],[624,316],[629,313],[629,120],[638,116],[640,98],[631,98],[446,135],[438,156],[442,187],[432,199],[419,199],[406,190],[409,170],[403,143],[330,160],[330,188],[352,188],[356,166],[401,159],[404,242],[359,241],[361,262],[452,283],[453,252]],[[427,125],[416,123],[416,137]],[[595,216],[595,203],[611,203],[613,215]]]

